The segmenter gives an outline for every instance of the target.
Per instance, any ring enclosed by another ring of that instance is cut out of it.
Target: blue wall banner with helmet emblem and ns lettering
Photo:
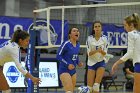
[[[64,40],[68,39],[68,23],[64,22]],[[36,21],[37,26],[47,26],[45,19],[38,19]],[[62,32],[62,21],[61,20],[50,20],[51,30],[51,42],[53,44],[61,44],[61,32]],[[33,28],[33,19],[31,18],[17,18],[0,16],[0,44],[6,40],[11,39],[13,32],[20,28],[22,30],[29,31]],[[46,29],[41,29],[41,44],[47,44],[47,33]]]

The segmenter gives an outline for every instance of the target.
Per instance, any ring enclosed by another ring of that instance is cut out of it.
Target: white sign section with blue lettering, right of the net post
[[[59,87],[57,62],[40,62],[39,78],[40,87]]]

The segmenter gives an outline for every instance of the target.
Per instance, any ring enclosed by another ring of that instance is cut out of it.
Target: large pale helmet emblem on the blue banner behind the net
[[[38,20],[36,21],[36,26],[38,31],[40,31],[40,41],[42,45],[48,44],[48,30],[47,30],[47,21]],[[50,41],[51,44],[55,44],[57,41],[57,33],[55,32],[54,27],[50,24]],[[33,29],[33,23],[29,26],[29,30]]]

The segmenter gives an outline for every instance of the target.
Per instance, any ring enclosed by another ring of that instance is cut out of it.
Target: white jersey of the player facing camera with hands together
[[[93,35],[88,36],[87,42],[87,53],[88,53],[88,66],[92,66],[97,62],[104,60],[104,56],[101,53],[95,53],[92,56],[89,56],[89,52],[102,48],[103,51],[107,53],[108,50],[108,40],[107,36],[103,35],[97,41]]]

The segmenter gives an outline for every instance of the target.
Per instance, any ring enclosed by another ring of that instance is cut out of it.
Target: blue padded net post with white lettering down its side
[[[35,7],[35,9],[37,9],[37,7]],[[36,20],[37,20],[37,12],[33,12],[33,26],[36,26]],[[27,53],[27,66],[29,69],[29,73],[31,73],[33,76],[38,77],[39,78],[39,56],[38,53],[40,52],[39,50],[35,50],[35,46],[36,46],[36,41],[37,44],[39,44],[39,39],[38,36],[40,36],[40,32],[39,31],[34,31],[36,30],[35,28],[30,29],[29,33],[30,33],[30,42],[29,42],[29,47],[28,47],[28,53]],[[37,36],[38,35],[38,36]],[[38,59],[35,59],[37,56]],[[33,82],[31,81],[31,79],[28,79],[28,88],[27,88],[27,93],[39,93],[39,86],[38,85],[34,85]]]

